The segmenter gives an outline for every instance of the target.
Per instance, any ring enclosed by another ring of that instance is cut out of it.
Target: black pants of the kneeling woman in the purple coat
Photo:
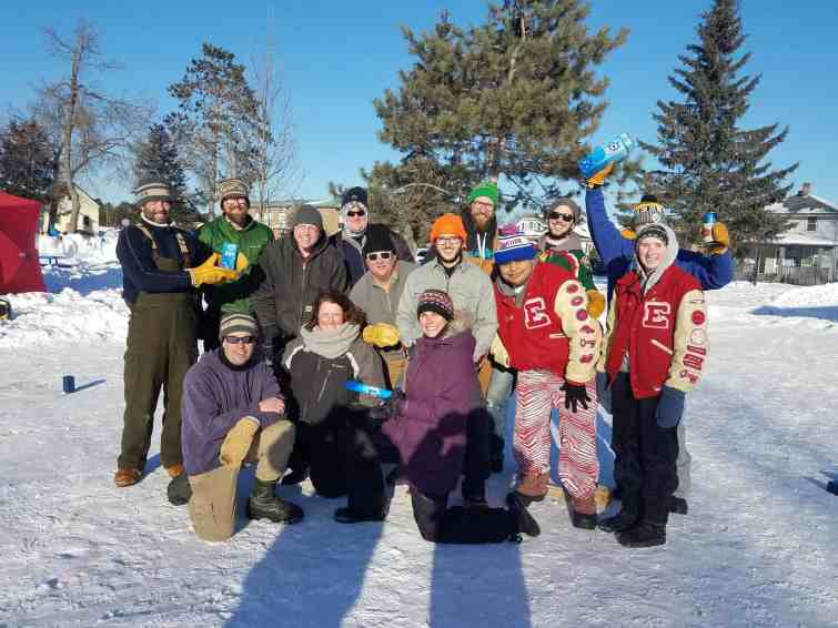
[[[349,500],[360,516],[381,513],[387,500],[382,464],[402,462],[381,429],[354,427],[347,452]],[[448,544],[502,543],[517,533],[515,516],[504,508],[447,507],[448,495],[423,494],[412,487],[413,518],[425,540]]]

